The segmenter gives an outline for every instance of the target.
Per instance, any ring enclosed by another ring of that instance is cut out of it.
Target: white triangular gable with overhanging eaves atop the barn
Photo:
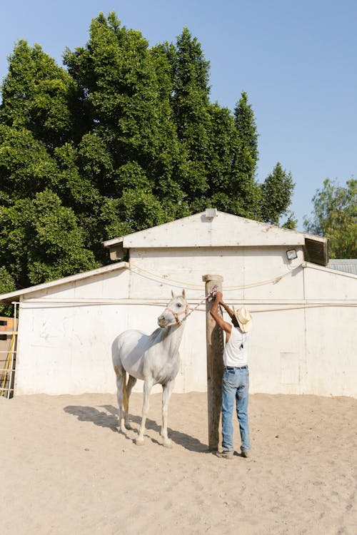
[[[327,238],[267,225],[215,209],[107,240],[103,245],[113,253],[113,260],[121,258],[119,250],[130,248],[302,245],[306,249],[306,260],[322,265],[328,262]]]

